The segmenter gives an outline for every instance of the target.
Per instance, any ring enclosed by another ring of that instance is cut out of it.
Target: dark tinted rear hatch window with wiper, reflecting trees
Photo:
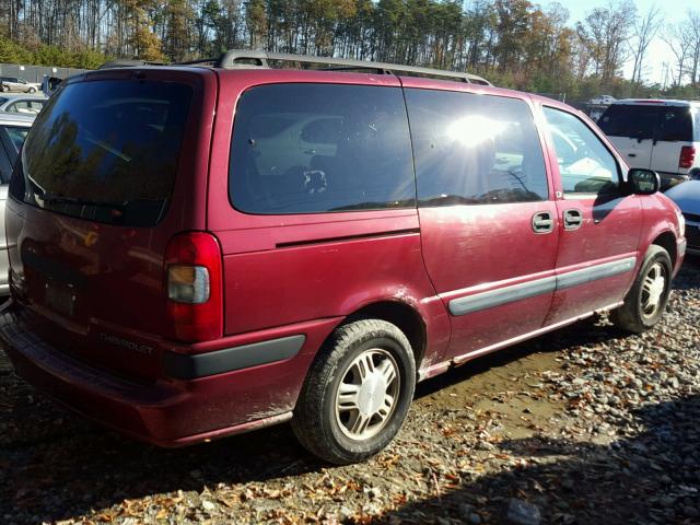
[[[170,82],[65,86],[34,122],[10,194],[86,220],[156,224],[173,192],[191,98],[191,88]]]

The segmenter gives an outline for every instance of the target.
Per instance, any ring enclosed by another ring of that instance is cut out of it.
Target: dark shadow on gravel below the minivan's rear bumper
[[[37,415],[42,417],[40,413]],[[289,425],[187,448],[152,447],[65,415],[72,431],[57,439],[3,446],[0,521],[60,521],[160,492],[265,481],[320,468]],[[40,422],[38,424],[42,424]],[[47,421],[47,424],[50,424]]]

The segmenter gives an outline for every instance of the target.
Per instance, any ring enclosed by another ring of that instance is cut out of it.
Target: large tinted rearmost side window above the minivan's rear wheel
[[[236,108],[229,194],[261,214],[416,206],[398,88],[273,84]]]

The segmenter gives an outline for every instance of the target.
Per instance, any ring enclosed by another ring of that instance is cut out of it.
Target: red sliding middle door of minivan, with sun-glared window
[[[423,258],[450,313],[450,357],[539,329],[558,229],[529,104],[420,89],[406,89],[406,101]]]

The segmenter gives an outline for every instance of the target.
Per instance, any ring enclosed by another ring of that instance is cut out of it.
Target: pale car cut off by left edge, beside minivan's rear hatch
[[[8,284],[8,242],[4,231],[4,208],[12,166],[24,138],[32,127],[33,116],[0,113],[0,296],[10,292]]]

